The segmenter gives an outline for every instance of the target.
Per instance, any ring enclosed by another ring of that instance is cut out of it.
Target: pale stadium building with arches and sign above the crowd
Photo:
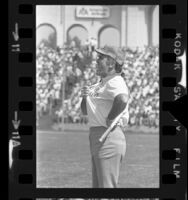
[[[122,47],[159,44],[159,6],[37,6],[37,45],[48,40],[54,47],[69,39]]]

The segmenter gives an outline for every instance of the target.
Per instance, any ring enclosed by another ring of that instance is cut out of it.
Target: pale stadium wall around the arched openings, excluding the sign
[[[70,27],[76,27],[76,25],[83,26],[88,33],[88,38],[96,38],[98,45],[100,45],[99,33],[110,26],[118,30],[121,46],[142,47],[158,45],[158,6],[108,7],[110,10],[109,18],[91,19],[78,18],[75,12],[76,6],[37,6],[36,31],[37,38],[39,38],[37,43],[40,42],[40,38],[42,37],[39,32],[40,27],[50,24],[56,29],[58,46],[62,46],[67,41],[67,34]]]

